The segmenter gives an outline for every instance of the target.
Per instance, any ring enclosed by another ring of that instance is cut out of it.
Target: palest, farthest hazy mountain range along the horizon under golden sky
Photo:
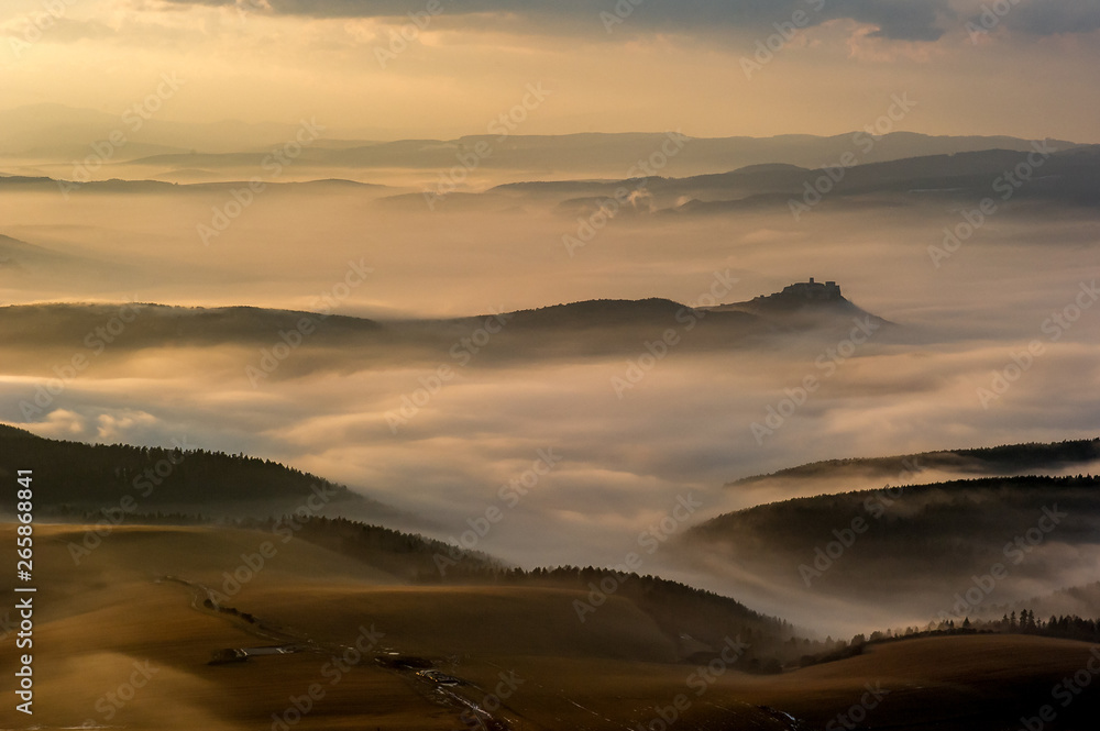
[[[295,126],[283,123],[244,123],[227,120],[182,123],[143,120],[131,130],[121,115],[61,104],[34,104],[0,111],[0,157],[69,162],[82,159],[91,145],[108,139],[112,130],[124,130],[128,142],[112,162],[167,167],[218,169],[252,166],[265,149],[292,140]],[[832,136],[785,134],[772,137],[694,137],[667,163],[662,174],[676,176],[724,173],[756,165],[785,164],[818,168],[833,164],[846,152],[859,151],[860,162],[876,163],[924,155],[948,155],[979,149],[1030,148],[1032,141],[1004,135],[926,135],[892,132],[871,137],[866,132]],[[480,143],[491,144],[493,155],[481,165],[495,169],[541,170],[553,177],[571,170],[585,175],[625,177],[636,160],[648,159],[668,139],[662,132],[559,135],[464,135],[454,139],[387,140],[384,130],[331,130],[305,149],[298,165],[359,169],[448,169],[455,156]],[[1050,141],[1058,148],[1077,145]]]

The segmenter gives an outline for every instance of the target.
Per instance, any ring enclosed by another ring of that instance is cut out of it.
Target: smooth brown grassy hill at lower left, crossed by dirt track
[[[358,530],[323,521],[316,528],[316,535],[332,535],[333,528],[344,536]],[[36,690],[52,697],[66,688],[43,709],[51,724],[78,726],[94,718],[152,728],[152,718],[160,716],[157,728],[266,728],[287,698],[300,695],[299,686],[317,682],[326,690],[324,702],[315,698],[310,728],[346,728],[355,719],[366,727],[453,729],[463,724],[463,711],[484,706],[487,728],[518,728],[518,719],[527,728],[554,729],[564,717],[574,719],[571,728],[603,729],[645,708],[644,696],[629,690],[636,683],[674,695],[692,667],[678,660],[682,640],[668,635],[625,595],[607,597],[581,622],[573,602],[585,600],[586,589],[475,583],[469,576],[451,585],[410,585],[371,565],[384,560],[384,547],[363,545],[352,557],[304,540],[309,529],[283,540],[266,527],[125,525],[76,566],[66,546],[81,541],[86,530],[36,528],[43,568],[35,599],[54,608],[38,618],[36,636],[68,649],[64,655],[41,653],[43,679]],[[8,544],[13,534],[14,527],[0,527]],[[416,536],[407,540],[432,549]],[[652,583],[647,591],[650,602],[666,594]],[[97,631],[88,631],[89,622]],[[263,652],[276,646],[283,652]],[[356,653],[342,654],[353,647]],[[255,656],[209,664],[228,649]],[[733,662],[743,653],[738,646],[727,657]],[[326,663],[340,656],[346,664],[329,686],[332,674],[324,668],[333,666]],[[113,687],[113,674],[129,675],[133,660],[156,668],[157,682],[124,708],[97,705],[101,680]],[[6,671],[10,663],[10,656],[0,658]],[[557,671],[563,666],[579,674],[571,674],[573,680],[586,678],[588,687],[559,683]],[[619,669],[605,677],[612,666]],[[99,673],[88,673],[91,667]],[[454,683],[418,675],[426,668]],[[640,676],[629,668],[641,668]],[[517,694],[503,709],[486,705],[509,671],[531,688],[530,696],[522,700]],[[584,702],[574,707],[574,694]],[[585,720],[591,708],[600,709],[606,722]],[[738,711],[746,712],[768,718]],[[508,726],[493,726],[495,718]]]

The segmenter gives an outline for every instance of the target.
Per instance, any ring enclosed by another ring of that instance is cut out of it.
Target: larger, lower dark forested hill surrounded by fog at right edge
[[[925,612],[1001,564],[1009,576],[993,600],[1019,591],[1022,599],[1036,587],[1094,576],[1100,477],[980,478],[798,498],[696,525],[676,553],[719,575]]]

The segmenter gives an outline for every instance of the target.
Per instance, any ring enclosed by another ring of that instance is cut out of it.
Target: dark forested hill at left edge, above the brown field
[[[34,505],[42,517],[79,519],[120,509],[264,517],[306,506],[310,513],[407,518],[343,485],[270,459],[195,448],[186,439],[170,450],[84,444],[0,424],[0,477],[14,479],[28,465],[34,467]]]

